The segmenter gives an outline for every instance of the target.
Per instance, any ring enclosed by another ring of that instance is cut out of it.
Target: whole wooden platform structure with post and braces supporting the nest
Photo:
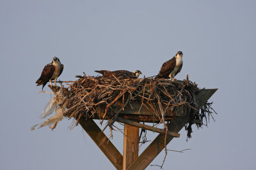
[[[218,89],[202,89],[197,95],[199,104],[205,104],[208,99]],[[140,122],[153,122],[154,111],[141,108],[140,104],[133,104],[131,108],[125,108],[116,121],[124,123],[124,153],[118,152],[113,143],[109,141],[106,135],[100,130],[99,126],[95,124],[92,119],[79,119],[79,124],[84,131],[93,139],[100,150],[108,157],[109,161],[116,167],[116,169],[145,169],[152,160],[164,149],[165,131],[149,125],[140,124]],[[118,110],[118,108],[117,108]],[[140,112],[139,112],[140,110]],[[102,111],[103,113],[103,111]],[[189,122],[189,114],[184,111],[174,114],[172,111],[166,113],[166,120],[171,120],[168,125],[168,132],[166,136],[166,145],[172,141],[173,138],[179,138],[178,132]],[[99,119],[99,117],[94,117]],[[158,132],[159,135],[150,143],[150,145],[141,153],[139,153],[139,129],[146,129],[149,131]]]

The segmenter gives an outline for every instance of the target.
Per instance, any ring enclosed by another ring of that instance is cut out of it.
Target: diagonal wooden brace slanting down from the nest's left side
[[[92,119],[80,118],[79,124],[83,127],[84,131],[93,139],[100,150],[106,155],[109,161],[116,167],[122,169],[123,156],[109,141],[108,137],[101,132],[99,126]]]

